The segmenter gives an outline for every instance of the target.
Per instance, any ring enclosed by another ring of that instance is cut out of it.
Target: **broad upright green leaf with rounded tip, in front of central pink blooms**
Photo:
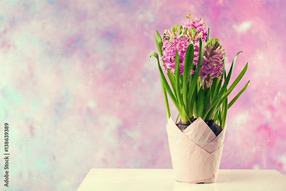
[[[176,54],[177,58],[177,54]],[[190,73],[193,66],[193,59],[194,59],[194,45],[189,44],[187,50],[186,50],[186,56],[185,56],[185,63],[184,63],[184,73],[183,73],[183,88],[182,88],[182,99],[183,103],[185,104],[185,108],[187,112],[189,111],[190,105],[187,101],[187,93],[188,93],[188,83],[190,78]],[[176,64],[175,64],[176,65]],[[176,74],[176,72],[175,72]]]

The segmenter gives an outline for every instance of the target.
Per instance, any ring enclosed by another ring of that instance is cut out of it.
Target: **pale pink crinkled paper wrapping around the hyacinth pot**
[[[216,137],[202,118],[183,132],[170,117],[167,123],[175,180],[184,183],[212,183],[217,180],[225,128]]]

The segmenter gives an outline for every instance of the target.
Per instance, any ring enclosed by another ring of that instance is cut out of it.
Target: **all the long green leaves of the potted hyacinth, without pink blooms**
[[[185,34],[190,32],[187,30],[187,28],[185,29],[185,31],[183,31],[182,26],[178,27],[178,25],[172,28],[172,30],[178,30],[178,29],[180,29],[180,31],[184,32]],[[221,46],[219,44],[218,39],[212,38],[208,40],[208,38],[209,38],[209,30],[207,34],[206,48],[216,48]],[[159,54],[162,57],[163,43],[162,43],[162,38],[158,33],[158,31],[156,31],[155,40]],[[190,44],[188,46],[185,56],[184,71],[183,74],[181,75],[179,74],[179,55],[178,52],[176,51],[175,74],[172,74],[170,70],[166,70],[169,82],[165,78],[164,73],[162,71],[162,67],[160,66],[158,54],[156,52],[153,52],[150,55],[150,57],[155,56],[158,61],[160,81],[162,86],[167,118],[168,119],[170,118],[170,109],[167,98],[167,92],[168,92],[172,102],[174,103],[174,105],[178,110],[182,123],[190,121],[191,117],[194,118],[201,117],[204,121],[214,119],[219,125],[222,126],[222,128],[224,128],[226,123],[227,110],[233,105],[233,103],[235,103],[235,101],[239,98],[239,96],[243,93],[243,91],[245,91],[245,89],[249,84],[248,81],[247,84],[244,86],[244,88],[237,94],[237,96],[235,96],[233,100],[231,100],[231,102],[228,103],[228,96],[235,88],[235,86],[238,84],[238,82],[241,80],[241,78],[244,76],[247,70],[248,63],[245,65],[245,67],[243,68],[241,73],[237,76],[237,78],[234,80],[234,82],[229,86],[229,88],[227,88],[234,71],[234,66],[237,56],[240,53],[238,52],[235,55],[235,58],[233,59],[229,72],[227,73],[224,68],[222,76],[220,76],[219,78],[214,78],[210,87],[206,88],[204,87],[204,84],[200,84],[200,77],[199,77],[202,65],[202,59],[204,55],[204,47],[201,38],[199,39],[199,48],[200,50],[199,50],[198,63],[195,68],[193,64],[194,46],[193,44]],[[195,70],[195,73],[190,75],[191,70]],[[170,87],[169,83],[171,84],[172,88]]]

